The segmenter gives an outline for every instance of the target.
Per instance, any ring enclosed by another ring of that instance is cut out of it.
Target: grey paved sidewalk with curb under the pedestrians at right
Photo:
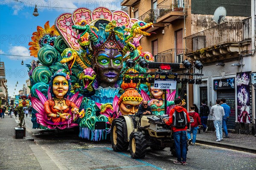
[[[256,137],[254,135],[228,133],[228,136],[229,138],[223,138],[221,142],[216,142],[215,131],[208,131],[207,133],[201,131],[196,136],[196,143],[256,153]]]

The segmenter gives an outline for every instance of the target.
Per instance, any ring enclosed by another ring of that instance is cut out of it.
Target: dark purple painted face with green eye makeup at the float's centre
[[[122,68],[122,53],[116,49],[105,48],[96,58],[96,72],[100,82],[114,83],[118,80]]]

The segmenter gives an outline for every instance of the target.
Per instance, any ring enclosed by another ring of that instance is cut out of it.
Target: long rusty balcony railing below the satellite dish
[[[243,41],[243,23],[222,23],[184,39],[187,53],[225,42],[241,42]]]

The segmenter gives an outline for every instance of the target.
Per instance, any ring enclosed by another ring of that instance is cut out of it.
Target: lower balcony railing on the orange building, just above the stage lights
[[[185,49],[169,49],[154,56],[154,62],[181,63],[184,60]]]

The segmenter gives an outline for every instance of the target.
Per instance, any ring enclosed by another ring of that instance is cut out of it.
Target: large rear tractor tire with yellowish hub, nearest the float
[[[129,142],[125,142],[123,123],[125,119],[114,119],[111,128],[111,144],[115,152],[126,151],[129,147]]]

